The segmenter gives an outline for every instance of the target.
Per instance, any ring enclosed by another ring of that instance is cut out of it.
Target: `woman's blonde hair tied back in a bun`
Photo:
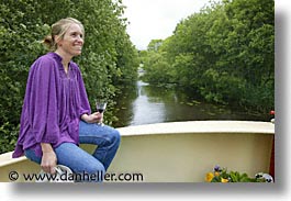
[[[78,24],[81,27],[82,34],[85,35],[83,25],[80,21],[74,18],[66,18],[57,21],[52,25],[51,35],[47,35],[43,44],[49,48],[49,51],[57,49],[57,41],[63,40],[64,35],[68,31],[71,24]],[[57,36],[57,38],[55,38]]]

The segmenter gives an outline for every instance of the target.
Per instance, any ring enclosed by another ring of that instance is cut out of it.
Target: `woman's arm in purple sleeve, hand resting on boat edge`
[[[43,56],[31,67],[26,90],[29,121],[36,143],[43,152],[41,167],[55,174],[56,154],[52,145],[58,142],[57,67],[52,58]]]

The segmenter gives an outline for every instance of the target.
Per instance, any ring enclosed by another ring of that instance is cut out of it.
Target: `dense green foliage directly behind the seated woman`
[[[83,53],[75,62],[92,107],[98,96],[112,100],[119,85],[136,79],[137,52],[125,32],[121,0],[0,2],[0,154],[14,147],[29,68],[47,52],[41,41],[59,19],[72,16],[85,25]],[[115,120],[113,104],[107,111],[109,124]]]

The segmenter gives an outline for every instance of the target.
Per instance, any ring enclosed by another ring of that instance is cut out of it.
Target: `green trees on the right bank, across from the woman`
[[[142,56],[148,82],[267,113],[275,105],[275,2],[214,2],[170,37],[153,40]]]

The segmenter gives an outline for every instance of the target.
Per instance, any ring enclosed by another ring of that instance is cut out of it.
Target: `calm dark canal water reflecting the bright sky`
[[[268,114],[250,114],[237,108],[206,103],[187,91],[143,81],[125,87],[115,101],[115,115],[120,119],[115,127],[199,120],[269,121]]]

